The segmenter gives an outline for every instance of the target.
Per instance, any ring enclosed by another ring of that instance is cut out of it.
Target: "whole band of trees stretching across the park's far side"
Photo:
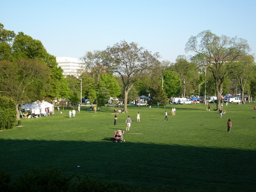
[[[19,107],[26,102],[67,98],[78,103],[81,79],[83,97],[97,100],[98,105],[118,97],[124,100],[124,112],[127,103],[140,95],[150,93],[152,105],[166,105],[167,98],[198,95],[198,85],[204,82],[206,94],[217,95],[217,108],[220,96],[234,93],[236,87],[242,97],[256,94],[254,57],[246,40],[206,30],[191,36],[185,51],[194,55],[159,61],[159,53],[123,40],[105,50],[86,52],[80,58],[81,76],[64,78],[56,57],[41,41],[23,32],[15,34],[0,23],[0,95],[14,101],[19,120]]]

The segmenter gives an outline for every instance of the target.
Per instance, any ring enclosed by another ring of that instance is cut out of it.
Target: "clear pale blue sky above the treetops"
[[[40,40],[58,57],[80,58],[125,40],[160,59],[186,54],[204,30],[246,39],[256,52],[255,0],[1,0],[0,23]]]

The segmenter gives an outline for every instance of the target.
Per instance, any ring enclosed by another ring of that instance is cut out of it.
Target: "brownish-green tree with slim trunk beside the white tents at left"
[[[16,118],[20,120],[19,105],[43,97],[47,90],[51,70],[36,59],[15,62],[0,61],[0,90],[16,104]]]

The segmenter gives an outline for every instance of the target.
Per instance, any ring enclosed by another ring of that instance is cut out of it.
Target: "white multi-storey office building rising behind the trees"
[[[66,77],[67,75],[74,75],[77,78],[82,73],[81,64],[83,61],[78,61],[77,58],[72,57],[56,57],[56,61],[58,63],[58,67],[63,69],[63,75]]]

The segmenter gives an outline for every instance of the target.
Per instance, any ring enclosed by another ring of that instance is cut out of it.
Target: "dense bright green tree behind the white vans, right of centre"
[[[167,97],[174,97],[180,94],[180,78],[178,75],[174,75],[172,71],[163,71],[164,77],[164,90]]]

